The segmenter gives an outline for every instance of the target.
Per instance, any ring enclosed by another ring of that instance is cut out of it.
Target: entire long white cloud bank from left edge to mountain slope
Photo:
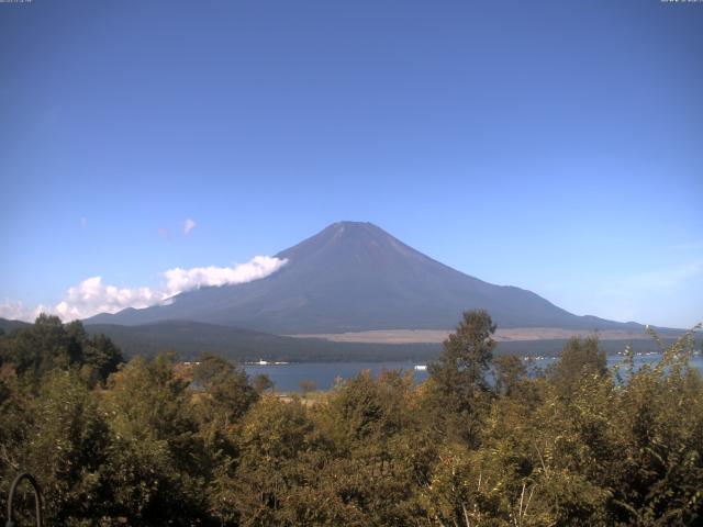
[[[32,322],[40,313],[49,313],[60,316],[64,321],[72,321],[98,313],[116,313],[125,307],[143,309],[170,303],[171,296],[191,289],[258,280],[276,272],[287,261],[269,256],[256,256],[246,264],[233,267],[177,267],[161,273],[166,281],[156,289],[118,288],[103,283],[101,277],[92,277],[69,288],[64,300],[53,307],[40,305],[29,309],[22,302],[5,299],[0,304],[0,317]]]

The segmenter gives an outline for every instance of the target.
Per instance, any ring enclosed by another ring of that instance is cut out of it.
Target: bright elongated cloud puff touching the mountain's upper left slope
[[[202,285],[225,285],[258,280],[279,270],[286,261],[270,256],[256,256],[247,264],[234,267],[177,267],[164,272],[164,277],[167,280],[167,291],[178,294]]]

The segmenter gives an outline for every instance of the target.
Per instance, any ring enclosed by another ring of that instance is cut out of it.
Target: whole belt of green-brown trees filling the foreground
[[[609,370],[591,337],[534,371],[494,330],[467,312],[424,383],[360,373],[311,404],[42,315],[0,335],[0,507],[29,471],[46,525],[701,525],[693,333],[654,367]]]

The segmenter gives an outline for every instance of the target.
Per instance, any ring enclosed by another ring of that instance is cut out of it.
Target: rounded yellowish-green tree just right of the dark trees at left
[[[210,462],[192,413],[189,380],[172,355],[137,357],[113,373],[101,396],[114,437],[105,470],[111,515],[130,525],[191,525],[207,518]]]

